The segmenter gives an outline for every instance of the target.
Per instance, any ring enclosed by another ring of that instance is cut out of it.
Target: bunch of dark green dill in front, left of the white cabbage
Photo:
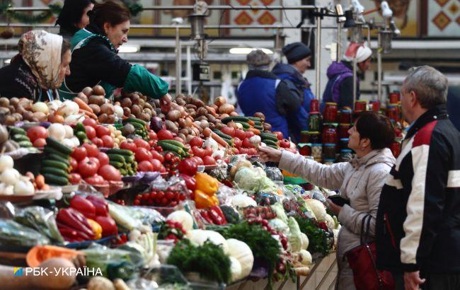
[[[209,240],[198,247],[189,240],[180,240],[166,262],[182,272],[198,272],[200,277],[219,283],[228,283],[231,277],[229,257]]]

